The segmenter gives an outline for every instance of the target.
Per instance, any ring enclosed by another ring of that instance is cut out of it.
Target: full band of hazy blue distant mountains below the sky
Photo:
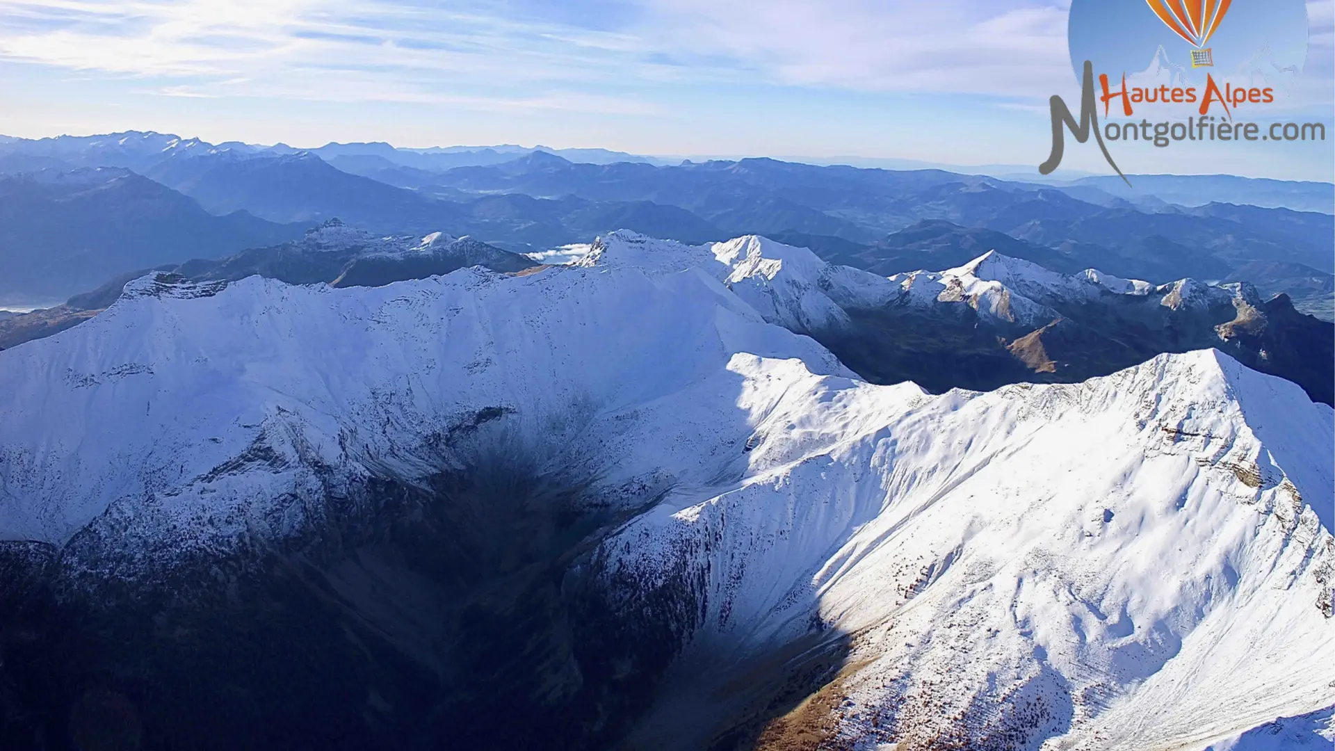
[[[184,261],[182,254],[223,255],[271,245],[339,218],[383,235],[421,237],[445,229],[514,253],[587,243],[615,229],[692,243],[762,234],[880,274],[947,267],[999,250],[1065,273],[1099,267],[1156,283],[1183,277],[1248,281],[1266,295],[1286,293],[1300,309],[1326,317],[1335,299],[1327,290],[1335,273],[1331,214],[1218,202],[1183,207],[1144,192],[1119,195],[1097,178],[1049,186],[943,170],[773,159],[659,166],[617,160],[623,155],[615,152],[581,151],[571,156],[587,162],[573,162],[543,150],[483,151],[489,154],[384,143],[298,151],[144,132],[4,140],[0,171],[47,176],[5,182],[15,196],[24,194],[27,203],[15,206],[24,206],[28,224],[13,224],[11,235],[0,238],[0,257],[24,258],[45,247],[57,233],[41,227],[67,223],[59,219],[64,204],[57,202],[64,199],[41,186],[77,166],[132,170],[160,183],[162,196],[174,196],[179,211],[194,211],[199,233],[215,223],[204,216],[210,212],[222,215],[226,226],[187,249],[182,243],[191,245],[192,231],[155,229],[182,229],[190,224],[184,219],[143,216],[132,227],[101,222],[104,238],[80,241],[99,257],[92,269],[67,274],[77,254],[63,243],[63,251],[39,253],[41,262],[25,265],[24,275],[9,278],[11,291],[0,294],[63,298],[119,273]],[[1196,182],[1147,180],[1165,190],[1187,190]],[[1208,184],[1246,192],[1252,183]],[[1324,190],[1319,183],[1256,184],[1307,195],[1308,203],[1315,200],[1312,191]],[[115,191],[85,192],[87,216],[115,214],[124,200]],[[1206,195],[1230,198],[1218,190],[1197,191]],[[190,199],[202,211],[188,208]],[[228,216],[238,211],[248,216]],[[43,219],[47,215],[49,220]],[[152,250],[163,243],[180,247]],[[127,247],[136,250],[121,258]],[[922,263],[924,251],[944,255]]]

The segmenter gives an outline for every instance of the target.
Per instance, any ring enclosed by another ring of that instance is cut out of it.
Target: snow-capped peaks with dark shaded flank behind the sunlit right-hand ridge
[[[765,238],[686,247],[633,233],[595,243],[645,265],[692,258],[766,321],[809,334],[862,378],[932,392],[1075,382],[1160,353],[1218,347],[1335,401],[1332,327],[1246,283],[1165,285],[1089,269],[1059,274],[988,251],[956,269],[889,278]],[[578,262],[577,262],[578,263]]]

